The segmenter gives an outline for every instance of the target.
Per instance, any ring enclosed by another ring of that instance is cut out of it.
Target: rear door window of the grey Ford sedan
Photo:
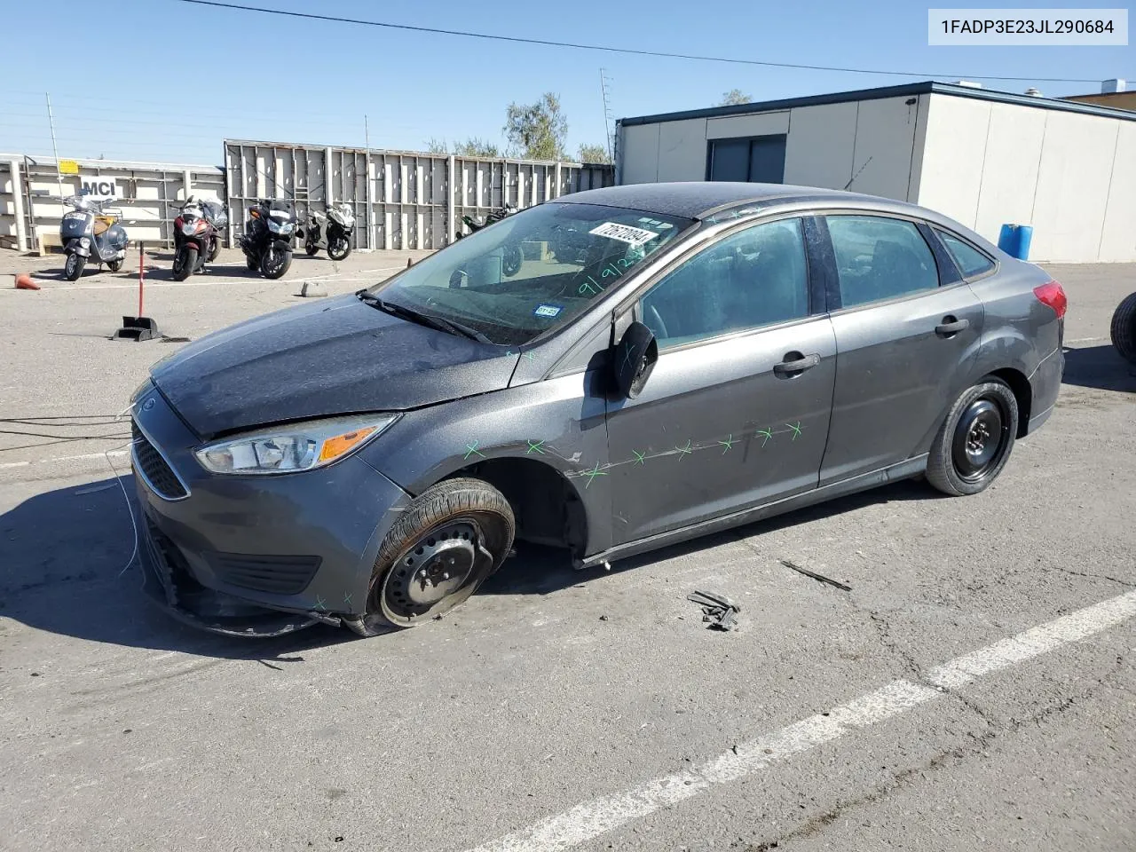
[[[828,216],[845,308],[938,287],[935,256],[919,228],[883,216]]]

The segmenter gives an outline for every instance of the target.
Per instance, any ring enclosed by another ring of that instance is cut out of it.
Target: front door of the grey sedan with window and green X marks
[[[609,409],[612,544],[816,487],[835,340],[805,258],[800,218],[750,225],[638,300],[659,360]]]

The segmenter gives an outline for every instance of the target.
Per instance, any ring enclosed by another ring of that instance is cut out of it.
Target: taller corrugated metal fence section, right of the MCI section
[[[295,203],[298,216],[346,202],[360,249],[441,249],[466,214],[532,207],[610,186],[611,166],[225,141],[231,237],[257,199]]]

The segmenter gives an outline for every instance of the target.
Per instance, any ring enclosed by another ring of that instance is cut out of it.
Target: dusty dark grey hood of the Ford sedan
[[[159,361],[151,377],[204,438],[498,391],[517,360],[516,351],[410,323],[348,294],[209,334]]]

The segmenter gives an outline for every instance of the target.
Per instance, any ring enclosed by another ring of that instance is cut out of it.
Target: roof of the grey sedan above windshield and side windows
[[[924,219],[977,242],[987,250],[992,243],[980,234],[947,216],[918,204],[859,192],[826,190],[819,186],[795,186],[780,183],[741,183],[730,181],[676,181],[668,183],[636,183],[584,190],[556,199],[569,204],[600,204],[629,210],[680,216],[707,220],[732,209],[771,208],[807,204],[809,207],[853,208],[858,210],[892,212]],[[746,210],[747,212],[747,210]]]

